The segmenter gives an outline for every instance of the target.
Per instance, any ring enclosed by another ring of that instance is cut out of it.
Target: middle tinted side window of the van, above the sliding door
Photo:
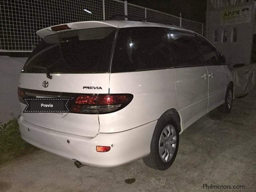
[[[202,65],[196,37],[193,33],[167,29],[177,67]]]

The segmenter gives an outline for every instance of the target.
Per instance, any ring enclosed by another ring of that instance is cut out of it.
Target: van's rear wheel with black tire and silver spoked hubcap
[[[176,112],[171,117],[162,115],[158,119],[151,140],[150,154],[143,158],[148,167],[163,171],[173,164],[179,147],[178,119]]]

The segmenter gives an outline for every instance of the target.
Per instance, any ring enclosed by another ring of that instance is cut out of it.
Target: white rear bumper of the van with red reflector
[[[96,167],[115,167],[147,156],[156,122],[119,133],[99,133],[95,137],[85,137],[31,124],[23,116],[18,120],[21,137],[26,142],[64,158],[76,159]],[[97,145],[112,144],[114,147],[110,151],[96,152]]]

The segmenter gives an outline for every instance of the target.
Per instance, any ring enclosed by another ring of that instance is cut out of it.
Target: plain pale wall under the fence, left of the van
[[[0,56],[0,122],[6,123],[21,113],[17,88],[26,57]]]

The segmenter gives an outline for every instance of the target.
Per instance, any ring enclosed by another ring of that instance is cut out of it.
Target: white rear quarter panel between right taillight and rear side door
[[[110,94],[130,93],[133,100],[123,109],[100,114],[100,132],[129,130],[157,120],[166,110],[178,108],[174,69],[112,73]]]

